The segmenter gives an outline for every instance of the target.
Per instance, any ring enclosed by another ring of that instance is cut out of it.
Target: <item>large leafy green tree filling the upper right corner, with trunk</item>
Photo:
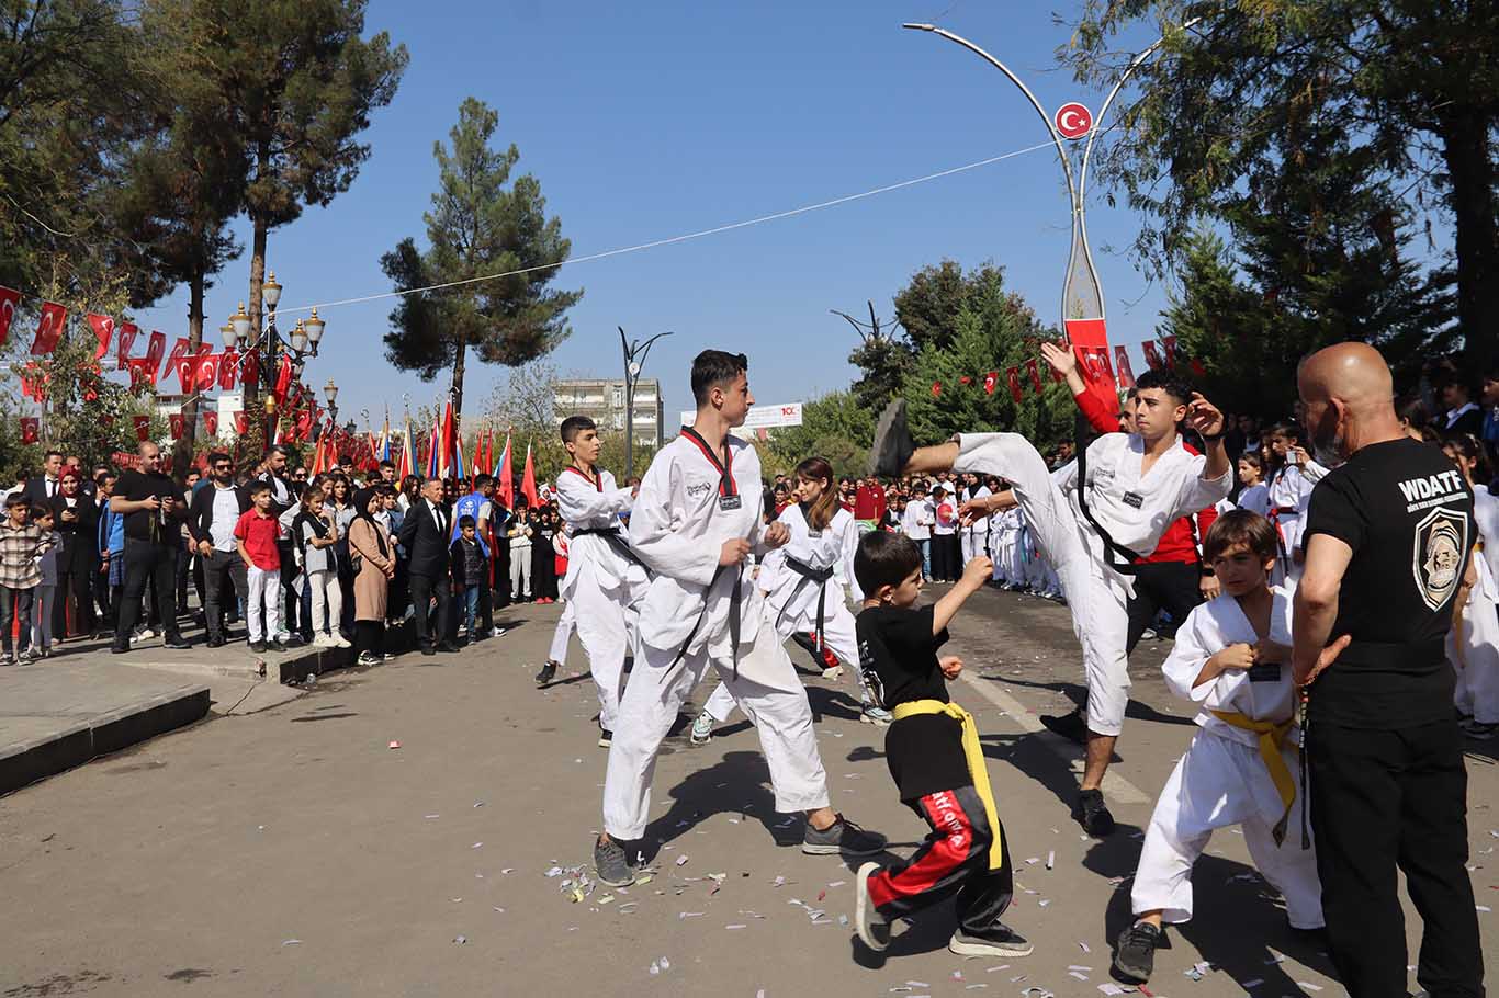
[[[1180,25],[1201,18],[1190,28]],[[1436,207],[1456,234],[1457,315],[1474,366],[1495,357],[1499,327],[1499,7],[1390,0],[1087,0],[1061,57],[1076,78],[1112,84],[1141,22],[1166,25],[1166,54],[1144,64],[1100,174],[1148,222],[1135,250],[1153,270],[1180,265],[1207,220],[1244,223],[1246,192],[1261,216],[1298,207],[1315,217],[1330,174],[1357,180],[1364,204],[1339,219],[1357,244],[1388,253],[1400,222]],[[1328,132],[1337,139],[1330,141]],[[1310,156],[1309,156],[1310,153]],[[1307,160],[1312,169],[1307,169]],[[1235,237],[1240,235],[1235,231]],[[1318,318],[1339,322],[1369,304],[1369,267],[1312,267],[1283,253],[1259,262],[1273,289],[1310,273]],[[1388,280],[1388,277],[1387,277]],[[1304,282],[1303,282],[1304,283]],[[1406,304],[1396,303],[1396,312]],[[1420,312],[1420,309],[1418,309]],[[1378,313],[1378,309],[1375,309]],[[1427,315],[1427,334],[1433,316]],[[1399,324],[1391,324],[1397,327]],[[1367,325],[1346,325],[1367,337]],[[1411,330],[1393,330],[1406,340]],[[1415,337],[1420,339],[1420,337]]]

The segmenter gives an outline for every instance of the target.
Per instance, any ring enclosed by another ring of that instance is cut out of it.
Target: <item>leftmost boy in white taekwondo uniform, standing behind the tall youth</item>
[[[588,417],[562,420],[562,445],[573,463],[558,475],[558,512],[573,529],[567,575],[558,595],[573,610],[577,640],[588,653],[588,668],[598,686],[598,743],[607,748],[619,716],[625,686],[625,649],[634,626],[636,604],[646,592],[645,565],[619,529],[634,492],[616,489],[615,477],[598,460],[598,430]],[[552,662],[543,673],[552,668]],[[550,676],[537,676],[538,685]]]

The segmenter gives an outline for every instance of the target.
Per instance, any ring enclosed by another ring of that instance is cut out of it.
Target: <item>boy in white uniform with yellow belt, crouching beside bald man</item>
[[[1171,692],[1198,704],[1187,754],[1150,817],[1130,902],[1136,922],[1114,967],[1145,982],[1162,922],[1192,919],[1192,865],[1217,829],[1240,826],[1255,866],[1286,899],[1294,929],[1321,929],[1322,886],[1298,793],[1297,694],[1291,676],[1291,595],[1270,587],[1276,529],[1232,509],[1202,541],[1223,593],[1192,613],[1162,671]]]

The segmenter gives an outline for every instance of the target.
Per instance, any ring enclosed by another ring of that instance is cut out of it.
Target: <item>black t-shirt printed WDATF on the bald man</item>
[[[1306,539],[1325,533],[1354,557],[1330,640],[1352,643],[1312,688],[1313,721],[1414,727],[1453,716],[1444,641],[1477,539],[1474,496],[1432,444],[1360,450],[1312,492]]]

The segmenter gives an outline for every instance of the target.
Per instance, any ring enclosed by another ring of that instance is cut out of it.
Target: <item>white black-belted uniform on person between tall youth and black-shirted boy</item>
[[[859,643],[854,638],[853,614],[844,601],[842,587],[833,574],[842,568],[854,602],[863,602],[863,592],[853,577],[853,556],[859,550],[859,521],[847,509],[836,509],[821,530],[812,530],[802,506],[791,503],[776,517],[791,533],[791,539],[770,551],[760,565],[755,584],[764,592],[764,611],[776,637],[785,640],[796,632],[812,632],[820,646],[857,667]],[[832,583],[832,592],[829,592]],[[863,704],[878,706],[869,695],[863,673],[854,668]],[[727,683],[718,683],[703,710],[714,721],[727,721],[735,698]]]

